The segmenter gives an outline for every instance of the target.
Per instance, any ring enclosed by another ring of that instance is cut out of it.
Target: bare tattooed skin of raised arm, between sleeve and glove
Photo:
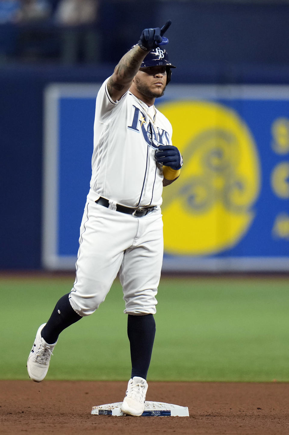
[[[136,45],[118,62],[107,84],[108,93],[113,101],[119,100],[131,87],[132,80],[146,55],[147,52]]]

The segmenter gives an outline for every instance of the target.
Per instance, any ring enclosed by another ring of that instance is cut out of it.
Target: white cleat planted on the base
[[[128,389],[122,402],[122,412],[126,415],[139,416],[144,412],[145,395],[148,383],[143,378],[134,378],[128,381]]]

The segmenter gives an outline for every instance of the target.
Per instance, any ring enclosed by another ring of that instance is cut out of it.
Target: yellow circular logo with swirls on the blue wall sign
[[[163,190],[165,253],[208,255],[233,247],[250,228],[259,193],[249,128],[213,102],[173,101],[158,109],[171,121],[184,159],[179,179]]]

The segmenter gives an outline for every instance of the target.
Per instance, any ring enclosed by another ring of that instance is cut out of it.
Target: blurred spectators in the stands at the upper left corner
[[[0,62],[97,62],[98,7],[98,0],[0,0]]]

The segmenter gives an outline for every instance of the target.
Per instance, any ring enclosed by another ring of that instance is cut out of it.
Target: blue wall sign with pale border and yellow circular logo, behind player
[[[43,266],[75,268],[101,84],[45,91]],[[289,271],[289,87],[170,85],[184,157],[164,189],[164,271]]]

